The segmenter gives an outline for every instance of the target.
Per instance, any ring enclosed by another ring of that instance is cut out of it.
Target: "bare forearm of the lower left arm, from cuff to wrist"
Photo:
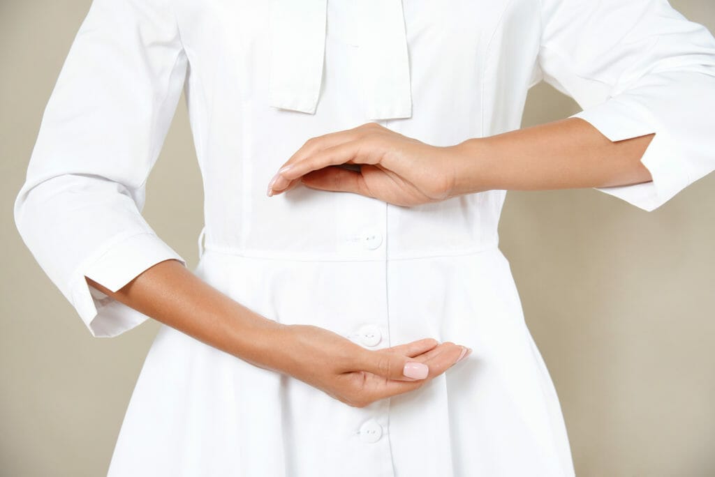
[[[149,267],[117,292],[85,278],[117,301],[257,366],[265,362],[267,335],[282,326],[232,300],[176,260]]]

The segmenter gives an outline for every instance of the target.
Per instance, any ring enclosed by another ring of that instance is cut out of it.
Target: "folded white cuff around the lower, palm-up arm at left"
[[[74,273],[70,293],[72,305],[92,336],[118,336],[143,323],[149,316],[89,286],[84,276],[117,291],[147,268],[170,258],[186,266],[184,258],[167,243],[146,232],[117,237],[88,258]]]

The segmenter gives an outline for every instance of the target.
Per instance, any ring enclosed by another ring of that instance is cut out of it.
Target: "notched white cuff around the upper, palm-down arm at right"
[[[665,128],[643,106],[613,97],[569,117],[588,121],[611,141],[655,133],[641,157],[641,163],[650,171],[652,181],[593,189],[618,197],[644,211],[653,211],[691,184],[691,176],[680,161],[681,151]]]

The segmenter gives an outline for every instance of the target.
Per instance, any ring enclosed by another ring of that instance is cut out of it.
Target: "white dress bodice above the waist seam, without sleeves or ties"
[[[360,29],[348,0],[327,1],[315,114],[269,106],[271,2],[177,0],[189,59],[189,114],[204,179],[207,247],[290,258],[400,258],[495,246],[506,191],[410,208],[299,186],[268,197],[275,170],[312,136],[370,119]],[[404,1],[412,116],[383,126],[435,146],[518,129],[536,78],[537,0]],[[307,32],[306,32],[307,34]],[[380,242],[380,243],[378,243]]]

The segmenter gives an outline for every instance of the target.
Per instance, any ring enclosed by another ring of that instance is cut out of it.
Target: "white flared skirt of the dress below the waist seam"
[[[163,325],[114,448],[119,476],[573,476],[555,388],[497,246],[396,260],[207,248],[194,269],[280,323],[370,349],[473,349],[416,391],[356,408]]]

